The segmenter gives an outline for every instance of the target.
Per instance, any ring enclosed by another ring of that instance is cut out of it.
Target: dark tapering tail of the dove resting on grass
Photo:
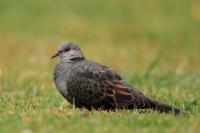
[[[174,113],[174,114],[180,114],[183,112],[179,108],[158,102],[144,95],[136,96],[134,101],[135,101],[134,105],[136,106],[136,108],[140,109],[150,108],[153,110],[157,110],[161,113]]]

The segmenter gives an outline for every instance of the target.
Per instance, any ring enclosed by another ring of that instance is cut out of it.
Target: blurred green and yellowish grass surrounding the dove
[[[200,3],[0,1],[0,132],[198,132]],[[73,109],[50,57],[64,40],[185,115]]]

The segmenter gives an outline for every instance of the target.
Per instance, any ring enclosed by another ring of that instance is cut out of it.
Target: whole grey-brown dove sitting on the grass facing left
[[[53,79],[57,90],[72,105],[88,110],[151,109],[180,114],[181,109],[154,100],[127,83],[115,70],[85,58],[79,45],[61,43],[52,58],[60,57]]]

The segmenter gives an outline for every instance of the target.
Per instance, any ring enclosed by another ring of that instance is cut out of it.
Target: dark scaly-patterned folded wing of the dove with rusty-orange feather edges
[[[79,84],[76,95],[83,104],[123,108],[133,103],[132,88],[123,83],[121,77],[110,68],[84,62],[74,67],[73,73],[79,78],[71,79],[74,83],[71,86]]]

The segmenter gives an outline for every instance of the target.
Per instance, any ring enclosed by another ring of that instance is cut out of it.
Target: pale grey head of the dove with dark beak
[[[52,56],[52,58],[55,57],[61,57],[62,59],[66,60],[84,59],[84,55],[81,52],[81,49],[76,43],[73,42],[61,43],[57,53]]]

